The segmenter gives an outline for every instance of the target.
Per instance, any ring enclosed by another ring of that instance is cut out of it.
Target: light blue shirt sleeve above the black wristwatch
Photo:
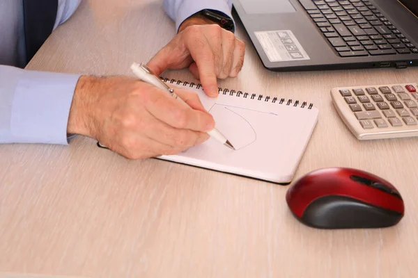
[[[176,22],[176,31],[180,25],[201,10],[217,10],[232,19],[232,0],[164,0],[166,13]]]

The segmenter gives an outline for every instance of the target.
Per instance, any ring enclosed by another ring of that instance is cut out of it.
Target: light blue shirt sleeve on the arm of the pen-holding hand
[[[79,75],[0,65],[0,143],[68,144]]]

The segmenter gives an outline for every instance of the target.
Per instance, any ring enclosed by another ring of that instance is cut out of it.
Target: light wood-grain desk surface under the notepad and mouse
[[[91,0],[28,68],[130,74],[175,31],[162,1]],[[227,88],[313,102],[320,116],[296,178],[348,166],[388,179],[405,199],[388,229],[300,224],[277,186],[156,159],[128,161],[75,138],[70,146],[0,146],[0,271],[84,277],[417,277],[418,138],[359,142],[330,88],[417,81],[418,69],[274,73],[242,26],[247,55]],[[187,70],[164,76],[194,81]]]

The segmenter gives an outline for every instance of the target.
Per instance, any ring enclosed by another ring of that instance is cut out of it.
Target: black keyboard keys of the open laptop
[[[341,57],[418,54],[368,0],[298,0]]]

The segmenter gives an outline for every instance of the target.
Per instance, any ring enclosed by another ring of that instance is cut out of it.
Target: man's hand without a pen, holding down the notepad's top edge
[[[218,95],[217,78],[235,77],[244,63],[245,44],[217,24],[201,25],[191,17],[179,33],[148,63],[155,74],[189,67],[209,97]]]

